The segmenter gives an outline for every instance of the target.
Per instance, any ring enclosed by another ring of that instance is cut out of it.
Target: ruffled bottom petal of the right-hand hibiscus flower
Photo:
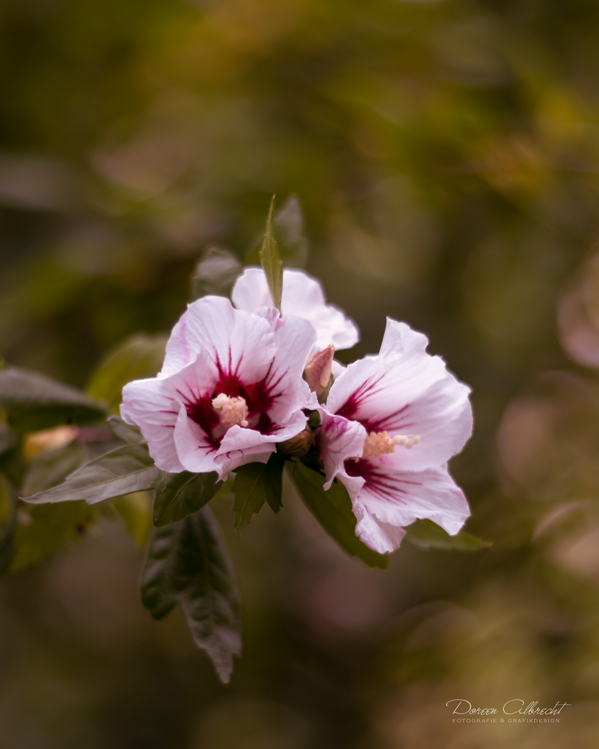
[[[365,479],[353,500],[353,513],[358,520],[356,536],[380,554],[398,548],[401,536],[394,535],[392,528],[404,528],[418,518],[428,518],[454,535],[470,514],[463,491],[445,466],[410,472],[362,465],[356,467],[356,473]],[[344,482],[343,476],[339,479]]]

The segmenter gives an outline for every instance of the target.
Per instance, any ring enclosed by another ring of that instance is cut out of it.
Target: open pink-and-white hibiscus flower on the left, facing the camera
[[[308,321],[204,297],[175,325],[162,372],[124,387],[121,416],[139,426],[162,470],[224,480],[266,463],[305,427],[312,397],[302,372],[314,339]]]

